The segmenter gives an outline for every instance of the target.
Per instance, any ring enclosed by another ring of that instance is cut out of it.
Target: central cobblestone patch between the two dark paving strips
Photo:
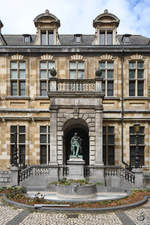
[[[74,215],[74,216],[73,216]],[[20,225],[123,225],[115,213],[109,214],[68,214],[32,213]]]

